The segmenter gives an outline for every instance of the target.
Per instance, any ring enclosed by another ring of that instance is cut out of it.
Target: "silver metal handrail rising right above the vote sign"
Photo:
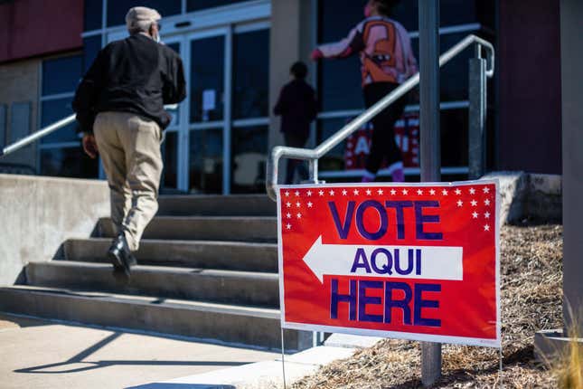
[[[473,34],[467,35],[459,43],[456,43],[451,49],[447,50],[439,56],[439,67],[441,68],[447,62],[451,61],[452,58],[456,57],[457,54],[463,52],[467,47],[475,44],[476,52],[478,57],[481,55],[482,47],[486,51],[486,56],[488,59],[488,65],[485,71],[487,77],[494,76],[494,46],[492,43],[485,41],[484,39],[475,36]],[[297,148],[297,147],[286,147],[277,146],[273,147],[271,150],[271,156],[268,157],[267,166],[267,180],[266,180],[266,190],[269,198],[273,201],[277,200],[275,187],[277,185],[277,171],[278,163],[281,157],[288,157],[294,159],[305,159],[310,162],[310,180],[315,183],[318,182],[318,159],[324,157],[326,153],[336,147],[345,138],[348,138],[355,130],[361,128],[366,122],[370,121],[372,118],[377,116],[383,109],[386,109],[396,100],[399,100],[405,93],[412,90],[419,83],[419,73],[411,76],[407,81],[400,84],[398,88],[392,90],[387,96],[379,100],[371,108],[362,112],[356,119],[353,119],[350,123],[345,125],[339,131],[337,131],[332,137],[324,140],[320,146],[314,149],[310,148]]]

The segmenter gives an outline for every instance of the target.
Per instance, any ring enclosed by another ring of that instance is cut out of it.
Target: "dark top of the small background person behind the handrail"
[[[279,93],[273,112],[281,115],[281,132],[307,138],[317,113],[314,89],[304,80],[287,83]]]

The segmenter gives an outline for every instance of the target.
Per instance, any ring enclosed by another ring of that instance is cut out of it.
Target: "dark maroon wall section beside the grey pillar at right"
[[[561,173],[559,2],[499,1],[498,166]]]

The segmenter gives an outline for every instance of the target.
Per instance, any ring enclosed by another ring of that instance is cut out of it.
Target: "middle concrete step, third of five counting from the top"
[[[64,259],[107,262],[111,239],[71,239]],[[277,272],[277,244],[254,242],[143,240],[136,253],[140,265]]]

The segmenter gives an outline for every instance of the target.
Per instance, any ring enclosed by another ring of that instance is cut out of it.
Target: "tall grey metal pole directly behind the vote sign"
[[[421,181],[441,180],[439,136],[439,0],[418,0]],[[441,344],[421,342],[421,381],[435,384],[441,375]]]

